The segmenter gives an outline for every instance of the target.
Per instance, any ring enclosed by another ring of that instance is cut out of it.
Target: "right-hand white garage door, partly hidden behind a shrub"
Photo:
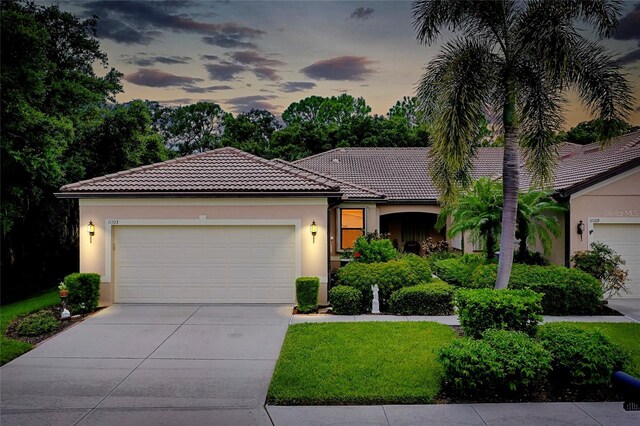
[[[615,250],[629,271],[627,288],[620,298],[640,298],[640,223],[595,223],[591,241],[601,241]]]

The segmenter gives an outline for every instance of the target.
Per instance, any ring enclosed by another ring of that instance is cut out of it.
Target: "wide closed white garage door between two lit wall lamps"
[[[116,303],[293,303],[293,226],[120,226]]]

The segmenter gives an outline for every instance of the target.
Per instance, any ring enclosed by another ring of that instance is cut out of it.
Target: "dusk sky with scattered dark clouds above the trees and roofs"
[[[100,17],[102,50],[124,73],[121,102],[206,100],[233,113],[262,108],[280,114],[307,96],[349,93],[385,114],[414,94],[424,65],[440,48],[416,42],[409,1],[59,4],[80,17]],[[640,125],[640,3],[624,6],[616,40],[606,43],[633,85],[631,122]],[[570,127],[589,117],[572,103],[566,119]]]

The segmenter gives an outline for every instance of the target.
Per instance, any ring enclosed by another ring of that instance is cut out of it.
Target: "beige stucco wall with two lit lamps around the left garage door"
[[[320,303],[327,302],[328,233],[327,200],[324,198],[81,199],[79,204],[80,272],[101,275],[100,302],[103,305],[113,303],[114,227],[127,224],[295,225],[297,270],[302,276],[320,278]],[[315,242],[309,231],[314,220],[318,225]],[[89,221],[96,226],[91,242],[85,231]]]

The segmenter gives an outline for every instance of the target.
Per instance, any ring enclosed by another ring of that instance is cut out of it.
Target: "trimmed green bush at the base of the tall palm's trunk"
[[[514,330],[533,335],[542,320],[542,295],[531,290],[460,289],[455,294],[465,335],[485,330]]]

